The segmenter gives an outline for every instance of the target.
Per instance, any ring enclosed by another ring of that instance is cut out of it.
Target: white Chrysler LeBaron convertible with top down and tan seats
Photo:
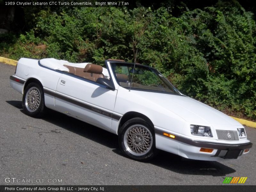
[[[135,160],[157,149],[189,159],[237,159],[252,147],[243,125],[183,95],[156,69],[112,59],[105,65],[21,58],[10,84],[23,94],[27,115],[51,108],[105,129]]]

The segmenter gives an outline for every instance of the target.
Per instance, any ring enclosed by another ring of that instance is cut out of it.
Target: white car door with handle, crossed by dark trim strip
[[[82,77],[63,73],[55,92],[60,112],[110,130],[117,90]]]

